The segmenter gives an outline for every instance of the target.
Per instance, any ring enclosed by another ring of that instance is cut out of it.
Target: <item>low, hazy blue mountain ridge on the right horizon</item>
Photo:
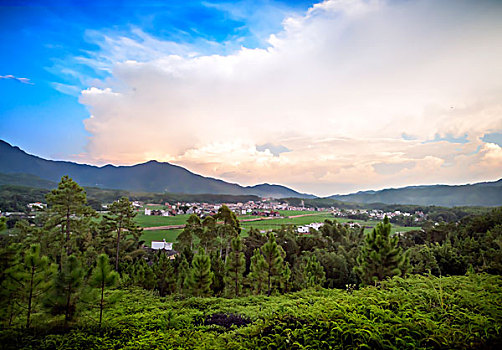
[[[361,191],[328,198],[344,202],[454,206],[501,206],[502,179],[469,185],[431,185]]]

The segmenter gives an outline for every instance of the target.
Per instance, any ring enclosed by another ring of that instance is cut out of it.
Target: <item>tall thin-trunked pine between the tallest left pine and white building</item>
[[[128,234],[132,235],[135,243],[139,243],[141,229],[134,221],[136,213],[132,203],[127,197],[121,197],[118,201],[113,202],[109,209],[109,215],[105,217],[105,222],[109,228],[115,231],[115,271],[119,271],[121,240],[123,239],[122,232],[127,230]],[[136,247],[138,248],[138,247]]]

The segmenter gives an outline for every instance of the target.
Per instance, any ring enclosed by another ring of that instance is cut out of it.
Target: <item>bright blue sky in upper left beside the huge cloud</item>
[[[0,2],[0,138],[51,159],[81,153],[89,117],[78,93],[106,71],[80,64],[99,47],[94,33],[133,28],[160,40],[197,45],[203,53],[256,48],[312,1],[3,0]],[[228,45],[210,45],[207,42]],[[64,84],[64,85],[60,85]],[[64,91],[64,92],[61,92]]]

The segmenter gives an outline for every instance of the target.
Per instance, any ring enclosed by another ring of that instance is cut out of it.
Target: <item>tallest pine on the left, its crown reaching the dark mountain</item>
[[[66,255],[70,255],[71,235],[81,233],[89,223],[83,219],[95,216],[96,212],[86,206],[84,189],[67,175],[61,178],[58,188],[48,193],[46,199],[49,206],[48,224],[52,227],[60,225]]]

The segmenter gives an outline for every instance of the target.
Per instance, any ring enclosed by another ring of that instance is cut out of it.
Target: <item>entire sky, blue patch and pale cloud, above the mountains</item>
[[[316,195],[502,178],[502,1],[0,1],[0,139]]]

